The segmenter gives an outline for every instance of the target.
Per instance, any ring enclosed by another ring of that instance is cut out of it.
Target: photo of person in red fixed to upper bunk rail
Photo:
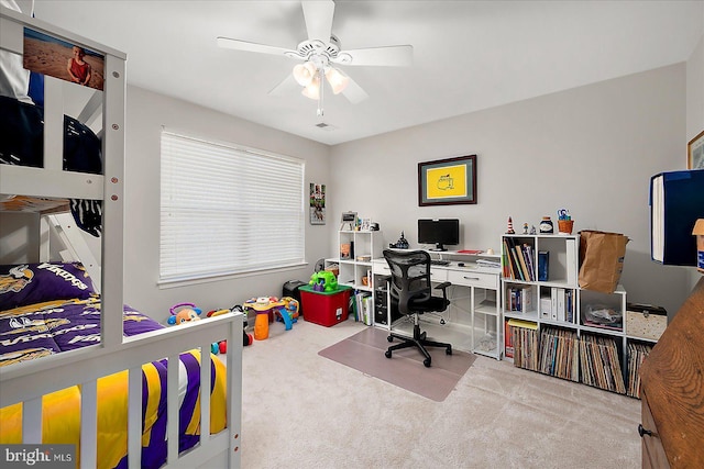
[[[24,29],[23,66],[30,71],[103,89],[105,56],[77,44]]]

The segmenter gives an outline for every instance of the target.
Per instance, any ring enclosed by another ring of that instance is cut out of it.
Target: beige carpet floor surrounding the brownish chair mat
[[[365,328],[244,348],[243,468],[640,468],[640,401],[477,356],[436,402],[318,355]]]

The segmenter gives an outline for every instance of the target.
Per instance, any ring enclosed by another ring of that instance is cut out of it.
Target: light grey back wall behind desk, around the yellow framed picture
[[[684,168],[685,89],[678,64],[334,146],[330,213],[358,211],[385,244],[404,231],[411,247],[417,219],[459,217],[462,248],[498,252],[508,216],[519,231],[566,208],[575,231],[628,235],[629,301],[675,312],[688,271],[650,260],[648,189],[650,176]],[[477,204],[418,206],[418,163],[471,154]]]

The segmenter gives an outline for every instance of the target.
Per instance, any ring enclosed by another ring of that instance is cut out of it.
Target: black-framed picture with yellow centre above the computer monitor
[[[476,203],[476,155],[418,164],[418,205]]]

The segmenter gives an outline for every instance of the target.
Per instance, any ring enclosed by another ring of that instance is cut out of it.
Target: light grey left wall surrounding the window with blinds
[[[328,231],[336,225],[306,225],[308,266],[191,284],[160,288],[160,133],[162,126],[188,135],[261,148],[306,160],[305,182],[327,183],[329,152],[318,144],[241,119],[144,89],[129,87],[127,100],[124,301],[153,317],[168,315],[179,302],[196,303],[204,311],[230,308],[252,297],[282,294],[286,280],[308,280],[312,266],[328,255]],[[260,183],[276,185],[276,181]],[[307,187],[307,186],[306,186]],[[307,190],[307,189],[306,189]],[[306,191],[307,194],[307,191]],[[286,221],[280,221],[282,237]],[[336,226],[337,227],[337,226]]]

